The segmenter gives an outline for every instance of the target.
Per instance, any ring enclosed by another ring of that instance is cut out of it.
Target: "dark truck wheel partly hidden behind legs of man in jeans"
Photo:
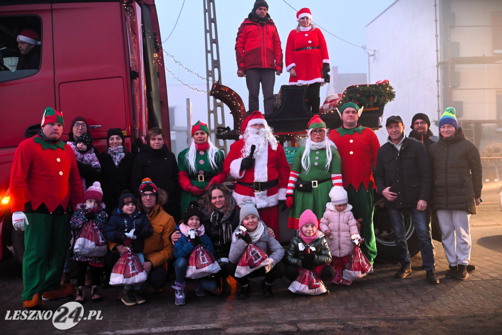
[[[376,194],[375,194],[376,199]],[[415,227],[410,214],[405,211],[405,236],[408,243],[408,252],[413,257],[420,251]],[[374,204],[373,213],[373,231],[376,239],[376,262],[380,263],[396,263],[399,261],[396,251],[396,239],[394,231],[389,221],[389,213],[384,206],[384,199],[379,196]]]

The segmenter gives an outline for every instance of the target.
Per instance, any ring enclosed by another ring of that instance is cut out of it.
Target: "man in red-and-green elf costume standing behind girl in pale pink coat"
[[[372,169],[376,164],[376,152],[380,142],[369,128],[358,126],[362,107],[346,102],[337,108],[342,126],[329,133],[329,139],[338,148],[342,160],[343,187],[347,190],[348,202],[353,206],[356,219],[362,218],[361,250],[373,264],[376,257],[376,242],[373,232],[373,188]]]

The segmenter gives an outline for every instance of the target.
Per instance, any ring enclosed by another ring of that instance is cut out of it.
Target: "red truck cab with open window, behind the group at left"
[[[35,31],[39,66],[16,69],[17,36]],[[48,107],[63,113],[63,140],[70,122],[86,118],[94,146],[106,148],[106,133],[120,128],[131,145],[149,127],[162,127],[170,144],[169,108],[161,37],[154,0],[0,0],[0,225],[2,254],[12,245],[9,178],[14,152],[25,131],[40,125]]]

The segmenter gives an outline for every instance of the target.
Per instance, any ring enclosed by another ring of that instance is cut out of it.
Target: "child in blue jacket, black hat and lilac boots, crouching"
[[[176,273],[176,281],[172,286],[174,291],[174,303],[176,305],[185,304],[185,274],[188,266],[188,258],[194,251],[195,247],[202,245],[204,249],[209,251],[214,256],[214,248],[211,239],[204,234],[204,226],[200,224],[201,217],[197,201],[191,201],[185,211],[183,222],[176,226],[176,230],[181,232],[181,238],[174,243],[174,271]],[[195,231],[195,238],[190,237],[190,232]],[[200,279],[192,279],[192,285],[195,289],[195,294],[204,296],[205,290],[216,294],[218,289],[213,278],[205,277]]]

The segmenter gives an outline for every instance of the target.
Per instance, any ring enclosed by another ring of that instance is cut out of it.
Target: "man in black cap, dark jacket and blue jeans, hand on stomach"
[[[422,263],[430,284],[438,284],[434,265],[434,246],[426,222],[427,202],[431,195],[432,173],[423,144],[406,138],[399,116],[387,119],[388,143],[376,155],[376,189],[385,197],[389,220],[394,229],[401,269],[396,278],[411,273],[411,257],[406,244],[404,210],[411,215],[420,244]]]

